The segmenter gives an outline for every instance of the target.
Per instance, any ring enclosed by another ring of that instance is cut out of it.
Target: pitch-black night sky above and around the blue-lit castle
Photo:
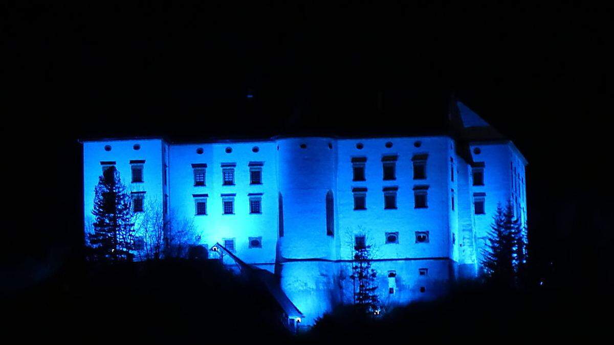
[[[529,160],[537,263],[611,283],[612,8],[360,3],[5,5],[7,231],[80,241],[77,138],[385,133],[432,115],[357,116],[378,90],[454,91]]]

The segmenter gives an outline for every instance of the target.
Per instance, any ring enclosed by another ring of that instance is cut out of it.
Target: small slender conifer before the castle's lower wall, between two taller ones
[[[371,268],[371,246],[354,246],[352,280],[358,285],[354,289],[354,303],[365,312],[379,314],[379,298],[375,285],[377,273]]]

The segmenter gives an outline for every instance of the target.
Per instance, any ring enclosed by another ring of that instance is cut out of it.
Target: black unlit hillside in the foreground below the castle
[[[4,293],[4,339],[63,343],[524,343],[607,335],[612,298],[454,287],[448,298],[370,319],[339,308],[292,336],[255,282],[214,262],[72,265]],[[600,311],[600,312],[599,312]],[[7,338],[10,337],[10,338]]]

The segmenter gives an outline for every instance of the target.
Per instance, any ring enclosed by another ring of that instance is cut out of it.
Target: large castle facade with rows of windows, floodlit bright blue
[[[384,308],[437,298],[479,274],[497,203],[527,220],[523,155],[456,106],[457,131],[432,136],[84,141],[86,231],[95,185],[113,165],[134,211],[159,207],[190,223],[190,245],[220,243],[276,274],[304,325],[351,303],[349,261],[363,242]]]

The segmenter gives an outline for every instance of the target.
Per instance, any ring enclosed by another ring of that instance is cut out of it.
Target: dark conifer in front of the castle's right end
[[[484,271],[492,284],[501,287],[515,285],[517,228],[511,203],[508,203],[505,209],[501,204],[497,204],[497,212],[493,217],[482,259]]]

